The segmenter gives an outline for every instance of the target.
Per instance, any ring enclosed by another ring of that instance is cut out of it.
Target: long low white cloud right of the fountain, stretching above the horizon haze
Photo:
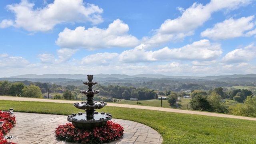
[[[212,44],[209,40],[200,40],[181,48],[164,47],[156,51],[147,51],[145,44],[126,50],[119,56],[120,62],[150,62],[170,60],[202,60],[212,61],[222,54],[220,44]]]

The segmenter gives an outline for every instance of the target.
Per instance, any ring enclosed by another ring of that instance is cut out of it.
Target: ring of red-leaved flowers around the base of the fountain
[[[72,124],[58,125],[55,130],[56,138],[67,142],[102,144],[117,140],[123,136],[124,128],[120,124],[108,121],[106,126],[95,127],[92,130],[81,130]]]

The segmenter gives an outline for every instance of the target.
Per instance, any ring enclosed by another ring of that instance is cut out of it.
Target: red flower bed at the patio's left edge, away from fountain
[[[4,125],[0,127],[0,144],[14,144],[7,142],[4,139],[4,135],[10,132],[11,128],[16,124],[15,116],[11,117],[9,112],[2,112],[0,110],[0,121],[4,122]]]

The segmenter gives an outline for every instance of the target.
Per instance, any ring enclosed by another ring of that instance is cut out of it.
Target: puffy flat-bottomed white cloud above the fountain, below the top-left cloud
[[[114,20],[107,29],[97,27],[77,27],[75,30],[65,28],[60,32],[56,44],[65,48],[84,48],[96,50],[112,47],[133,47],[139,40],[128,34],[129,27],[121,20]]]

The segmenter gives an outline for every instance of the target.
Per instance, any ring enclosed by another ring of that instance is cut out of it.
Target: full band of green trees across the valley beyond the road
[[[187,86],[187,85],[186,85]],[[0,81],[0,95],[8,96],[21,96],[21,97],[34,97],[40,98],[48,90],[50,93],[57,92],[58,90],[65,90],[63,94],[55,94],[55,99],[68,99],[68,100],[86,100],[84,94],[80,94],[80,90],[87,90],[88,86],[61,86],[56,84],[41,83],[41,82],[9,82]],[[94,90],[100,90],[98,95],[110,95],[116,99],[138,98],[139,100],[150,100],[158,98],[158,95],[167,96],[170,105],[177,102],[178,97],[190,95],[190,107],[193,110],[203,110],[210,112],[232,113],[242,116],[256,117],[256,97],[253,96],[252,91],[247,89],[230,89],[217,87],[210,90],[193,90],[190,94],[175,90],[152,90],[147,87],[136,88],[134,86],[118,86],[101,84],[94,85]],[[98,95],[95,98],[100,98]],[[234,107],[227,108],[223,99],[232,99],[240,102]],[[104,100],[108,101],[108,100]]]

